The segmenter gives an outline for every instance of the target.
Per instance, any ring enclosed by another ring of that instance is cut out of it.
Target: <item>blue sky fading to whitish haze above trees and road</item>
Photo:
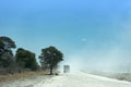
[[[37,55],[56,46],[80,69],[127,67],[131,0],[0,0],[0,36]]]

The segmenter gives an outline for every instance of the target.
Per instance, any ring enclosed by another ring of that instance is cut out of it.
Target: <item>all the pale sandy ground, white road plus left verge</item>
[[[2,83],[0,87],[131,87],[131,83],[75,72]]]

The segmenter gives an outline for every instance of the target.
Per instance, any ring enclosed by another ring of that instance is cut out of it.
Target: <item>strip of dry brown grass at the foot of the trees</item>
[[[38,71],[38,72],[25,72],[21,74],[8,74],[8,75],[0,75],[0,82],[7,82],[7,80],[15,80],[20,78],[27,78],[33,76],[40,76],[48,74],[48,71]]]

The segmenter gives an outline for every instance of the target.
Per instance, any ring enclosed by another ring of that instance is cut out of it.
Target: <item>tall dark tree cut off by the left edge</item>
[[[16,46],[11,38],[0,37],[0,66],[9,67],[13,62],[12,48],[16,48]]]

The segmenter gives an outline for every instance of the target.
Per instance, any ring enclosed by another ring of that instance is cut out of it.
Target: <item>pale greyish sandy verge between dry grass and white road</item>
[[[0,83],[0,87],[40,87],[40,84],[44,84],[46,80],[49,80],[52,76],[41,75],[41,76],[32,76],[28,78],[21,78],[17,80],[9,80]]]

